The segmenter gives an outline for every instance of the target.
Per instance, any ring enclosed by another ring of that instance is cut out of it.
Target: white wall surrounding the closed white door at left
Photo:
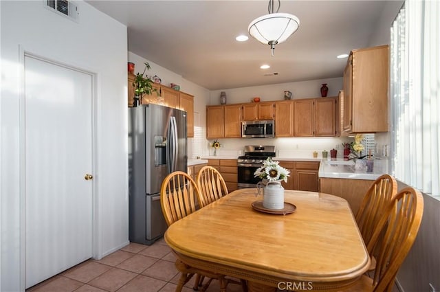
[[[1,7],[1,291],[24,290],[24,221],[20,194],[19,116],[27,52],[97,74],[94,257],[128,243],[126,27],[78,1],[78,23],[44,1],[0,1]]]

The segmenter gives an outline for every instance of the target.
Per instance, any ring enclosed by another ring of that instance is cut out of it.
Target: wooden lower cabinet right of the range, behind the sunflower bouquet
[[[283,182],[286,190],[307,190],[318,192],[318,161],[280,161],[280,165],[290,170],[287,183]]]

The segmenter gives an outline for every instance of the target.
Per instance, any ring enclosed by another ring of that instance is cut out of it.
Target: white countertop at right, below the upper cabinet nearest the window
[[[373,172],[366,172],[366,170],[355,170],[353,160],[327,160],[322,159],[319,168],[319,177],[336,178],[336,179],[367,179],[375,180],[377,177],[388,172],[387,160],[374,160]]]

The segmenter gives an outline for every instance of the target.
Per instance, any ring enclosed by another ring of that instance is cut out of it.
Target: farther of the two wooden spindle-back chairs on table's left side
[[[204,205],[220,199],[228,194],[225,180],[220,172],[212,166],[203,166],[197,174],[197,186],[203,196]]]

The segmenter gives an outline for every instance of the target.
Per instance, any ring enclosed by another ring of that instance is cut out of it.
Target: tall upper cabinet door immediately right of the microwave
[[[275,104],[275,136],[294,136],[294,102],[276,102]]]

